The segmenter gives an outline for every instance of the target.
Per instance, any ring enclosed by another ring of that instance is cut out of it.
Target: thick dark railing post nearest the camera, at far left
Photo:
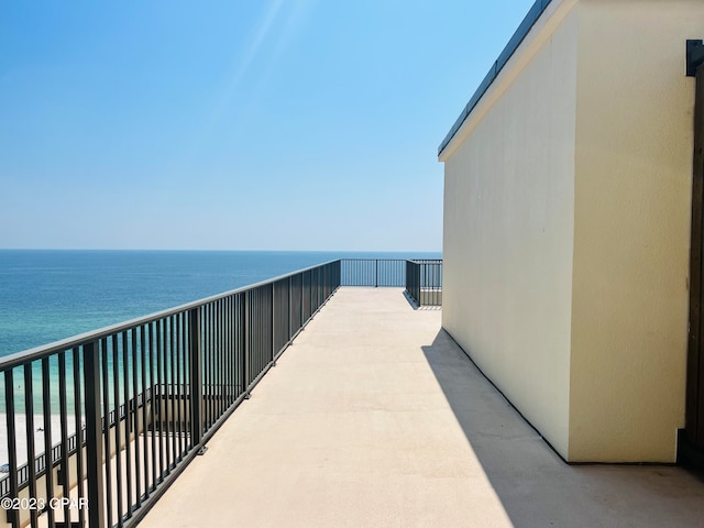
[[[88,480],[88,526],[103,528],[105,485],[102,476],[102,417],[100,413],[100,364],[96,342],[84,345],[86,391],[86,476]],[[106,435],[108,431],[106,430]],[[109,460],[106,461],[108,464]]]

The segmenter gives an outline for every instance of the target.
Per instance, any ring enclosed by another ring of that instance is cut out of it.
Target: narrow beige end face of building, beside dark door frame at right
[[[673,462],[684,426],[694,81],[704,2],[579,4],[570,449]]]

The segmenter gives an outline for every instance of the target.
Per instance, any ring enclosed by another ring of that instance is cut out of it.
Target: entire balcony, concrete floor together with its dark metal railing
[[[10,520],[700,526],[704,484],[684,470],[565,464],[444,333],[441,311],[414,300],[414,284],[435,286],[408,266],[337,261],[6,360],[6,380],[18,371],[31,387],[24,365],[44,374],[44,360],[70,363],[77,350],[80,367],[64,365],[77,397],[66,383],[57,391],[61,436],[86,421],[81,457],[62,439],[55,471],[37,459],[33,472],[11,471],[3,492],[75,501]],[[8,409],[14,396],[6,383]],[[10,458],[16,468],[16,449]]]

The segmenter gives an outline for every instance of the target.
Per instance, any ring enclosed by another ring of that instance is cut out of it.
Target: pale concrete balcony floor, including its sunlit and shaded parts
[[[672,466],[570,466],[400,289],[341,288],[144,527],[704,527]]]

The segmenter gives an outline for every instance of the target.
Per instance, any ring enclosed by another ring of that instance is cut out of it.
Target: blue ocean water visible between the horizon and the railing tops
[[[334,258],[440,253],[0,250],[0,356]]]

